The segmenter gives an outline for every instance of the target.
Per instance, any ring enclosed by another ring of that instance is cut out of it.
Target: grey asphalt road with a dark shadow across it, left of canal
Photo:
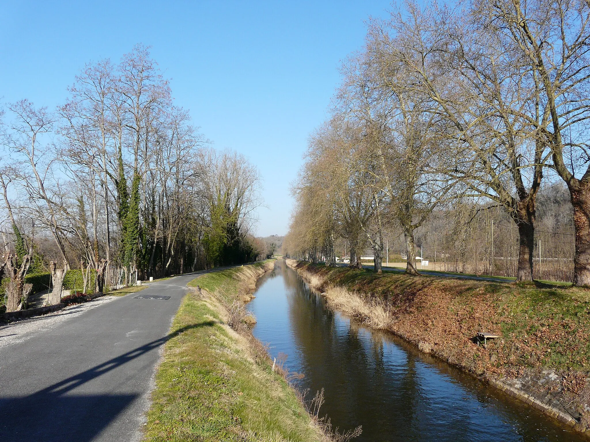
[[[137,441],[160,348],[198,273],[0,327],[0,441]],[[168,300],[137,299],[165,295]]]

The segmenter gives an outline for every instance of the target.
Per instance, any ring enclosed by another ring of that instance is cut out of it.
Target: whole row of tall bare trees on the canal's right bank
[[[310,137],[286,253],[355,266],[371,248],[380,272],[403,241],[416,273],[418,241],[446,270],[590,285],[589,23],[582,0],[370,22]]]

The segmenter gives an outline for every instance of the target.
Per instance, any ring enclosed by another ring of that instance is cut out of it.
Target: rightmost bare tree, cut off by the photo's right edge
[[[586,126],[590,118],[590,5],[520,0],[477,2],[482,28],[520,56],[538,91],[539,113],[523,118],[549,141],[553,169],[567,184],[574,210],[576,285],[590,285],[590,160]],[[578,177],[576,177],[576,174]]]

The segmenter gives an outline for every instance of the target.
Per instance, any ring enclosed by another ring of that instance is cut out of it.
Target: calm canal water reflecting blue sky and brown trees
[[[354,441],[585,441],[535,408],[491,388],[391,334],[327,308],[278,260],[248,304],[254,335],[284,361],[301,390],[324,388],[334,427],[362,425]]]

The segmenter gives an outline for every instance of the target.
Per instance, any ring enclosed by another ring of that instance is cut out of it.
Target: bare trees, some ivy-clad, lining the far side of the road
[[[257,169],[207,146],[146,48],[87,65],[68,93],[54,112],[27,100],[3,112],[8,311],[27,304],[27,272],[51,272],[55,303],[70,268],[80,269],[82,292],[102,292],[263,252],[248,235]]]

